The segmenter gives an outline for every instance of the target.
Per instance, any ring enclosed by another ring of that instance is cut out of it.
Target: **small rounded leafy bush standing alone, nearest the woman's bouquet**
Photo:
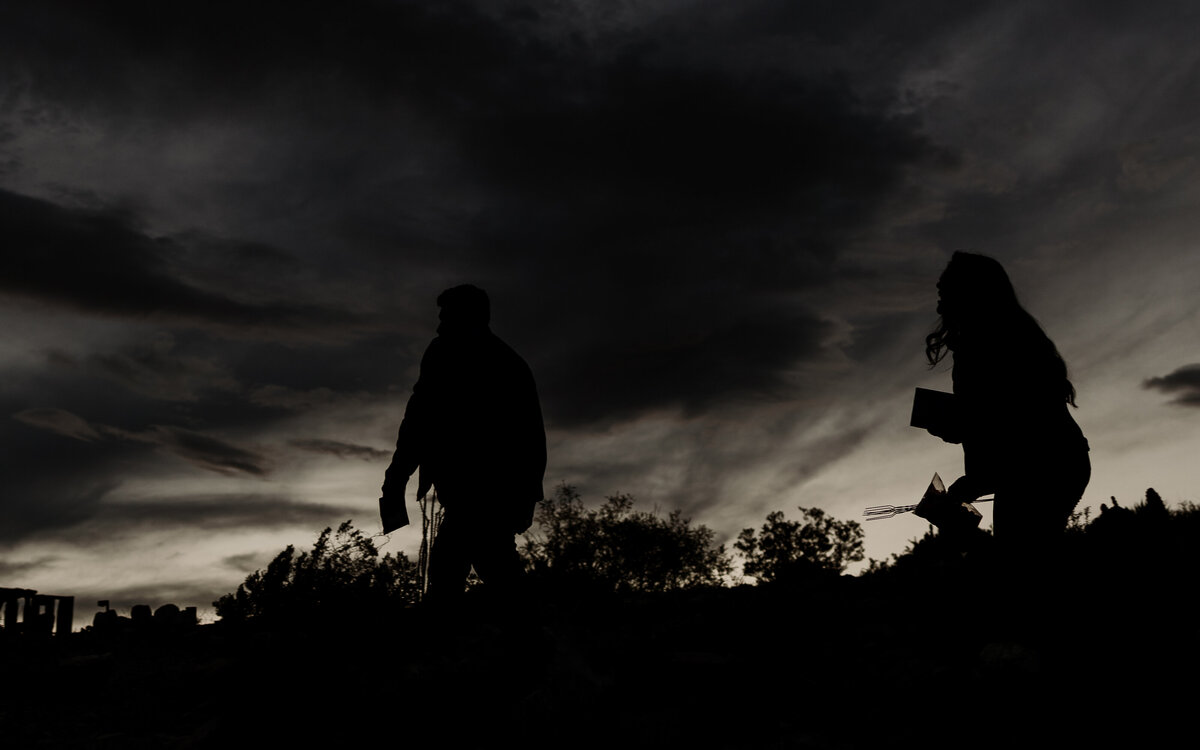
[[[800,508],[803,521],[780,511],[767,515],[758,534],[743,529],[734,547],[745,556],[743,572],[760,583],[794,582],[815,575],[840,575],[863,559],[863,527],[838,521],[820,508]]]

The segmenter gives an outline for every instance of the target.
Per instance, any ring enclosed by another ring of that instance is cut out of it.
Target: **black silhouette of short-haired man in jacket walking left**
[[[382,502],[403,506],[418,467],[418,496],[437,487],[445,517],[430,559],[431,601],[462,594],[472,566],[488,586],[511,587],[522,570],[514,536],[533,523],[546,473],[533,373],[488,328],[487,294],[454,287],[438,307],[438,336],[421,359]]]

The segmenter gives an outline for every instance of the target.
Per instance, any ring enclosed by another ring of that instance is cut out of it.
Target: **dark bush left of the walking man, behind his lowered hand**
[[[284,623],[332,614],[355,604],[420,598],[416,564],[404,553],[379,557],[374,544],[350,521],[326,528],[312,551],[288,545],[265,570],[246,576],[238,590],[212,602],[227,622],[251,618]]]

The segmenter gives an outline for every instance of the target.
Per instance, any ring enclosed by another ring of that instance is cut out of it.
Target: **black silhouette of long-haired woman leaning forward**
[[[941,320],[925,356],[934,366],[950,353],[959,419],[930,432],[962,444],[966,469],[949,498],[994,492],[997,544],[1036,553],[1066,528],[1091,476],[1087,440],[1067,408],[1067,365],[995,259],[954,253],[937,292]]]

